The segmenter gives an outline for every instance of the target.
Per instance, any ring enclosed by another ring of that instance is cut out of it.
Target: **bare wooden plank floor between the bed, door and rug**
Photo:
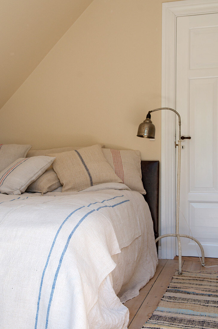
[[[128,300],[124,305],[130,311],[129,329],[141,329],[143,324],[157,308],[157,304],[178,268],[178,257],[174,260],[159,259],[157,271],[147,285],[139,291],[139,295]],[[205,265],[218,265],[217,258],[205,258]],[[218,271],[218,267],[201,266],[198,257],[182,257],[182,269],[190,271]]]

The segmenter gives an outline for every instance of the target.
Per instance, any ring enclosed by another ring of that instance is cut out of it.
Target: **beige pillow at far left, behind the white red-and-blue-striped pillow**
[[[25,158],[31,145],[0,144],[0,172],[18,158]]]

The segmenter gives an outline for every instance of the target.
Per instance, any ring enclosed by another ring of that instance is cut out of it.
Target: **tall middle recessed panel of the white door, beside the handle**
[[[217,192],[217,78],[189,80],[189,192]]]

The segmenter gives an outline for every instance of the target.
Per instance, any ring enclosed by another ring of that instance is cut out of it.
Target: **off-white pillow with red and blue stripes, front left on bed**
[[[54,157],[19,158],[0,172],[0,192],[21,194],[54,161]]]

